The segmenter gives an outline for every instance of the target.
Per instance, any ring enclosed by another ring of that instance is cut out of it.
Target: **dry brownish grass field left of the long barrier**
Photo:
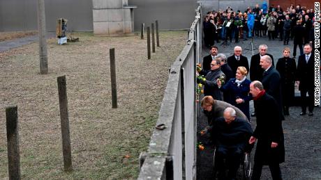
[[[80,42],[48,40],[50,72],[40,75],[38,44],[0,56],[0,179],[8,177],[6,106],[18,106],[23,179],[135,179],[186,31],[160,32],[147,60],[146,40],[82,33]],[[111,106],[109,49],[116,50],[118,106]],[[1,53],[0,53],[1,55]],[[65,75],[73,172],[63,172],[57,76]],[[124,158],[129,155],[129,158]]]

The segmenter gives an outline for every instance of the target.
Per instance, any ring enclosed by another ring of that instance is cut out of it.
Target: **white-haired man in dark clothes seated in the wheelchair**
[[[251,124],[236,117],[233,108],[225,108],[223,117],[218,117],[212,127],[211,138],[216,145],[218,179],[236,179],[241,157],[244,156],[248,139],[253,133]],[[227,177],[225,167],[228,169]]]

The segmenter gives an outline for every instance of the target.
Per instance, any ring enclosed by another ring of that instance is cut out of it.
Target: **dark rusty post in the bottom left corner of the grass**
[[[17,106],[6,107],[6,126],[9,179],[21,179]]]

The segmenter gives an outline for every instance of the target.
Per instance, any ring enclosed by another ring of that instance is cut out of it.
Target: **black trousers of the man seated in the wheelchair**
[[[218,167],[218,179],[235,179],[243,154],[244,149],[241,147],[216,147],[215,163]],[[226,170],[228,170],[227,177],[225,177]]]

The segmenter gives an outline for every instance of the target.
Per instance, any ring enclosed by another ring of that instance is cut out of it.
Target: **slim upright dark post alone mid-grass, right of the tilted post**
[[[112,108],[117,108],[117,83],[114,48],[110,49],[110,78],[112,81]]]

